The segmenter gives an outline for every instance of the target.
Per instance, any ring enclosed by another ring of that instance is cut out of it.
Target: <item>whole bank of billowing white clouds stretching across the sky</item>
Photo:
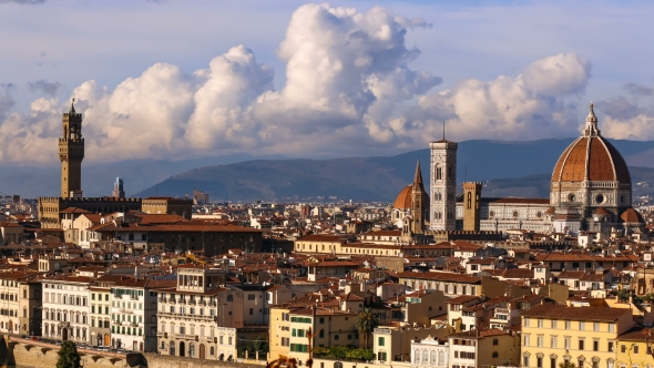
[[[589,60],[555,54],[532,62],[517,76],[469,79],[436,91],[442,80],[409,68],[420,51],[406,42],[407,32],[428,27],[385,8],[360,12],[307,4],[293,13],[277,50],[286,64],[280,90],[273,86],[275,71],[244,45],[202,70],[157,63],[114,89],[83,82],[74,95],[76,111],[84,114],[86,157],[391,153],[439,139],[442,121],[456,140],[579,133],[583,121],[578,105],[591,78]],[[70,108],[57,98],[60,85],[30,84],[44,96],[32,102],[29,114],[9,113],[11,94],[0,95],[0,160],[57,160],[61,113]],[[651,95],[640,84],[625,91]],[[584,115],[585,106],[584,101]]]

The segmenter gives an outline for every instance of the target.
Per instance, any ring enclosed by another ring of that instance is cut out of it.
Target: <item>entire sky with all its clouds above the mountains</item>
[[[0,0],[0,164],[654,140],[646,1]]]

